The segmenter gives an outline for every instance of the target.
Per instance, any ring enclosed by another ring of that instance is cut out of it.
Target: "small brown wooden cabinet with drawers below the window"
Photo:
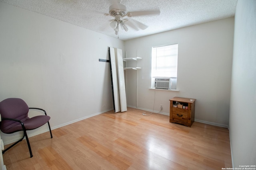
[[[170,100],[170,122],[191,127],[195,117],[196,99],[174,97]]]

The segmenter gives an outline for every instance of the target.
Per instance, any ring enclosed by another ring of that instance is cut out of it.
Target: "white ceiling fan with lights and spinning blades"
[[[110,27],[114,29],[116,35],[118,35],[120,28],[128,31],[127,25],[137,31],[139,29],[146,29],[148,27],[147,25],[134,20],[131,17],[160,14],[160,10],[127,12],[126,6],[122,5],[121,1],[122,0],[114,0],[114,4],[109,7],[109,14],[104,14],[105,16],[114,17],[113,20],[110,20]]]

